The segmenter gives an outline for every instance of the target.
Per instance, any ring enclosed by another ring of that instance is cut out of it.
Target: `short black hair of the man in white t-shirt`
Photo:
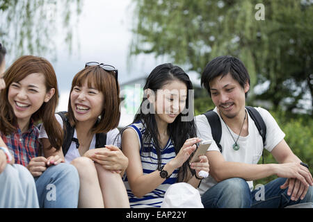
[[[224,77],[227,74],[231,74],[232,78],[238,81],[243,89],[246,86],[247,81],[250,85],[250,76],[246,67],[243,65],[241,60],[233,56],[218,56],[214,58],[214,60],[211,60],[202,73],[201,85],[207,89],[209,95],[211,96],[209,85],[211,80],[217,76]]]

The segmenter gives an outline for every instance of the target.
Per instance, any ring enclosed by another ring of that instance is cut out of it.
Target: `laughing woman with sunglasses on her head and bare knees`
[[[129,207],[120,176],[128,159],[117,147],[119,94],[118,70],[88,62],[72,80],[68,112],[56,114],[65,130],[58,155],[79,171],[79,207]],[[44,128],[40,135],[47,137]],[[47,139],[42,140],[49,147]],[[56,155],[54,148],[47,155]]]

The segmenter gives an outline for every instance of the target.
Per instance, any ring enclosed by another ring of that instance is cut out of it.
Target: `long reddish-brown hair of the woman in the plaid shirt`
[[[56,106],[58,105],[58,83],[54,68],[45,58],[22,56],[4,74],[3,78],[6,82],[6,88],[1,91],[0,96],[0,130],[6,135],[16,132],[17,118],[8,102],[8,89],[13,82],[19,82],[26,76],[34,73],[43,74],[45,76],[47,92],[54,88],[55,94],[47,103],[43,103],[40,109],[32,114],[31,118],[35,122],[42,121],[51,146],[58,150],[63,143],[63,129],[54,115]]]

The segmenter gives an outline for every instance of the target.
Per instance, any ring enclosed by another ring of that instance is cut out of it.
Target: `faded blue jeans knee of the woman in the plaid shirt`
[[[35,178],[39,205],[42,208],[77,208],[79,174],[71,164],[51,166]]]

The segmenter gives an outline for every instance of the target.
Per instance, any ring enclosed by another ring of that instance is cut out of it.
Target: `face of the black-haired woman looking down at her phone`
[[[180,80],[172,80],[157,91],[154,103],[156,119],[172,123],[184,110],[187,99],[186,84]]]

